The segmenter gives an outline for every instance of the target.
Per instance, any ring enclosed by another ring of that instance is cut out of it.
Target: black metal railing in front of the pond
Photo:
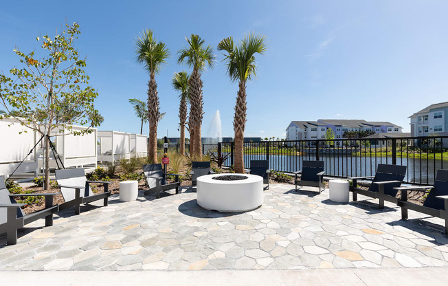
[[[272,170],[293,173],[304,160],[322,160],[329,177],[373,176],[378,164],[398,164],[407,166],[407,183],[432,184],[437,170],[448,167],[448,136],[245,142],[243,148],[245,168],[251,159],[268,159]],[[218,151],[229,154],[223,166],[234,165],[233,142],[219,143]]]

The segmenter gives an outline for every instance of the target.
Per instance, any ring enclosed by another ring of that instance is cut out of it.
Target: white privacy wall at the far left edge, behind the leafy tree
[[[0,175],[10,175],[36,144],[36,140],[35,131],[21,126],[13,119],[0,120]],[[35,172],[35,156],[36,153],[32,152],[26,157],[17,172]]]

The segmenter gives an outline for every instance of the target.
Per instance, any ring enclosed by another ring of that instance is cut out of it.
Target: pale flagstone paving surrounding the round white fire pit
[[[294,192],[271,184],[251,212],[203,210],[196,193],[161,199],[139,194],[109,206],[65,210],[19,231],[16,245],[0,236],[0,270],[223,270],[347,267],[444,267],[448,239],[441,219],[376,201],[328,200],[328,190]],[[361,199],[366,199],[360,196]],[[99,205],[98,205],[99,206]],[[89,208],[89,211],[87,211]]]

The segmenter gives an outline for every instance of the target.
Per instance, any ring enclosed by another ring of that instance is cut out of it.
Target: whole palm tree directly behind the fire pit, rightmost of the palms
[[[236,173],[244,173],[243,145],[244,129],[246,124],[246,82],[256,77],[255,54],[263,54],[267,49],[265,36],[249,34],[238,45],[229,37],[218,44],[219,51],[225,51],[223,61],[227,65],[229,78],[239,82],[239,90],[236,96],[234,131],[235,131],[235,159]]]

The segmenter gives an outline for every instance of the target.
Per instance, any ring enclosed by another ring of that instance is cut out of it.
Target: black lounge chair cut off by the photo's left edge
[[[8,245],[17,243],[17,230],[28,223],[45,217],[45,226],[53,225],[53,214],[58,212],[58,206],[53,205],[53,197],[59,193],[16,194],[11,195],[5,186],[5,178],[0,176],[0,234],[6,233]],[[25,214],[21,209],[26,203],[17,203],[14,197],[45,197],[45,208]]]

